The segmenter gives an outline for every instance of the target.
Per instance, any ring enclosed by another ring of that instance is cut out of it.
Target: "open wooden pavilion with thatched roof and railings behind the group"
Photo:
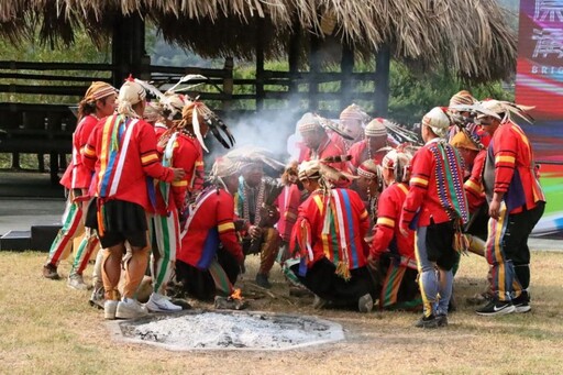
[[[202,57],[224,58],[224,67],[152,65],[145,52],[147,22],[167,42]],[[220,92],[202,92],[201,98],[220,101],[223,110],[234,100],[251,100],[256,111],[271,99],[296,108],[305,98],[307,108],[301,109],[311,111],[323,100],[336,101],[338,110],[367,100],[374,114],[386,117],[391,58],[468,82],[508,78],[516,64],[516,34],[495,0],[0,0],[0,37],[18,44],[34,37],[37,27],[41,41],[53,47],[71,44],[75,31],[86,30],[95,44],[111,42],[111,63],[0,62],[0,78],[20,79],[0,85],[0,92],[78,100],[92,77],[65,76],[68,70],[109,73],[100,79],[117,87],[130,73],[144,79],[165,77],[163,82],[199,73],[220,87]],[[233,79],[233,62],[239,59],[255,63],[255,78]],[[267,59],[287,60],[287,71],[265,69]],[[360,60],[375,60],[375,68],[355,71]],[[327,65],[338,68],[325,71]],[[51,73],[55,70],[59,73]],[[53,85],[33,85],[40,79]],[[57,79],[75,84],[56,85]],[[338,92],[323,90],[322,84],[334,81]],[[373,90],[356,89],[366,81],[374,82]],[[238,93],[236,85],[254,90]],[[52,178],[57,180],[56,155],[70,150],[67,113],[66,106],[0,102],[0,118],[10,118],[9,123],[0,120],[8,134],[0,152],[14,157],[20,152],[49,153]]]

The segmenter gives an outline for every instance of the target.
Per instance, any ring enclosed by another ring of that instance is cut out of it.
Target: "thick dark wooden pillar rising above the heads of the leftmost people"
[[[139,13],[118,15],[113,23],[111,62],[115,66],[112,84],[120,88],[130,74],[146,77],[145,22]]]

